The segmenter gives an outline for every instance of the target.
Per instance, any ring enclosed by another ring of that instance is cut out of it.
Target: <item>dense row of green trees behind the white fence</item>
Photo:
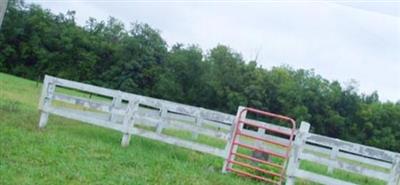
[[[9,2],[0,30],[0,71],[44,74],[235,114],[239,105],[308,121],[312,132],[400,151],[400,101],[324,79],[313,70],[262,68],[231,48],[168,46],[144,23],[110,17],[84,26],[75,12],[53,14]]]

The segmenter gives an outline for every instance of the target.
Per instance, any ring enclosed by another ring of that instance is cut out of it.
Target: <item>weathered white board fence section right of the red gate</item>
[[[296,178],[321,184],[355,184],[335,176],[340,172],[374,178],[389,185],[399,183],[398,153],[312,134],[308,132],[309,128],[309,124],[302,124],[296,136],[287,173],[287,185],[294,184]],[[326,171],[315,173],[302,169],[302,161],[324,166]]]

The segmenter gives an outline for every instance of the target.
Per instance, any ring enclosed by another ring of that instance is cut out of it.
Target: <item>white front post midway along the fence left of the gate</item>
[[[138,110],[139,103],[134,100],[129,100],[128,107],[126,110],[126,114],[124,116],[124,120],[122,122],[123,125],[123,135],[121,140],[121,145],[126,147],[129,145],[129,141],[131,140],[131,130],[134,125],[134,116]]]

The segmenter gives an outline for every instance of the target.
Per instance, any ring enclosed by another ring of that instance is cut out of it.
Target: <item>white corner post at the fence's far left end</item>
[[[44,128],[47,125],[47,121],[49,119],[48,110],[51,105],[51,101],[53,99],[53,94],[55,91],[55,84],[50,81],[48,76],[45,77],[42,87],[42,94],[39,101],[39,110],[40,110],[40,120],[39,120],[39,128]]]

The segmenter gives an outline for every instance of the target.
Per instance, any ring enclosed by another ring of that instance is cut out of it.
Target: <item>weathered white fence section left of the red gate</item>
[[[84,93],[95,95],[88,98]],[[131,135],[138,135],[220,157],[225,156],[234,120],[229,114],[52,76],[44,79],[39,109],[41,128],[53,114],[120,131],[124,146]],[[178,131],[190,137],[179,137]],[[219,140],[220,146],[199,142],[207,138]]]

